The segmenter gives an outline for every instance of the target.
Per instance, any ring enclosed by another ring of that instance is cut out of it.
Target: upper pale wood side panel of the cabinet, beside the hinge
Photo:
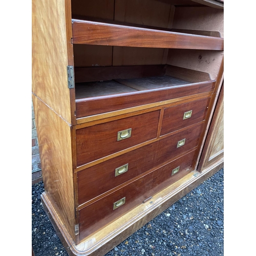
[[[32,1],[32,13],[32,92],[71,123],[65,1]]]

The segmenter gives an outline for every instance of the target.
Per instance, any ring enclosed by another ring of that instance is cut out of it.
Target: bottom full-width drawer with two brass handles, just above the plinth
[[[195,160],[196,151],[190,152],[80,209],[80,240],[184,177],[193,170]]]

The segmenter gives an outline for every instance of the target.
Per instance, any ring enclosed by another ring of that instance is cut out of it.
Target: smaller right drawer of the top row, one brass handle
[[[210,98],[205,98],[164,109],[160,135],[204,120],[209,102]]]

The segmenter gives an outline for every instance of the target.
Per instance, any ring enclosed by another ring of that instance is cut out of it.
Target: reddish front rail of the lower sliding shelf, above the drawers
[[[213,90],[215,82],[76,100],[76,117],[96,115]]]

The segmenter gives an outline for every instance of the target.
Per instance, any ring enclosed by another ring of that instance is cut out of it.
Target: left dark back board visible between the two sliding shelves
[[[112,46],[73,45],[75,67],[112,66]],[[75,73],[75,81],[77,75]]]

